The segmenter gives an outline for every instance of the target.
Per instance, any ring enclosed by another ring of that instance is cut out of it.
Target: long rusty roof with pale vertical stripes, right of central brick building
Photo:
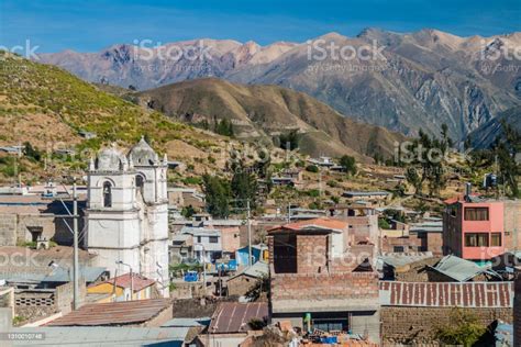
[[[512,307],[512,282],[379,283],[380,304],[387,306]]]

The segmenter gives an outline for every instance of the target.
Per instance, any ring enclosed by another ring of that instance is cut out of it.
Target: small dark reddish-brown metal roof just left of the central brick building
[[[223,302],[212,316],[210,334],[243,333],[250,329],[253,318],[264,320],[268,316],[267,302]]]

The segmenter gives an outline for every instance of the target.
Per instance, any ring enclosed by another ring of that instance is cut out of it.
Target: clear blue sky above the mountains
[[[368,26],[397,32],[434,27],[453,34],[521,31],[521,0],[0,0],[0,46],[96,52],[115,43],[199,37],[303,42]]]

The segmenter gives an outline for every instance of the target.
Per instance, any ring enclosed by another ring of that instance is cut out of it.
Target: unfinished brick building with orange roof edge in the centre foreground
[[[378,342],[378,276],[370,266],[376,247],[368,226],[358,217],[315,219],[270,230],[271,320]]]

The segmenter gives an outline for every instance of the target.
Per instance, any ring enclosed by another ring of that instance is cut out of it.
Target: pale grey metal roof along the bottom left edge
[[[42,333],[43,339],[12,340],[12,346],[144,346],[151,344],[168,344],[181,347],[188,334],[188,327],[160,328],[160,327],[19,327],[13,333]]]

